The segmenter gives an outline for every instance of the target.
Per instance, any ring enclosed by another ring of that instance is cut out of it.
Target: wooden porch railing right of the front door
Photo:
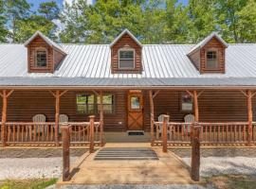
[[[203,146],[247,145],[248,122],[197,123],[200,129],[200,142]],[[163,122],[154,122],[154,144],[163,141]],[[170,146],[190,146],[192,136],[191,123],[167,122],[166,138]],[[256,145],[256,122],[252,124],[251,144]]]

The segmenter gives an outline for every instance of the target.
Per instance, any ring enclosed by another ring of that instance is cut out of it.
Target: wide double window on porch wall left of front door
[[[103,94],[103,112],[114,113],[114,94]],[[95,94],[77,94],[77,112],[96,114],[101,110],[100,96]]]

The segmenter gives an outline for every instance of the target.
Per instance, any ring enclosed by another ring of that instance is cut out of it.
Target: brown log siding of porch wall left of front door
[[[69,91],[61,97],[60,114],[68,115],[70,122],[88,121],[88,114],[77,112],[76,94],[88,94],[91,91]],[[126,131],[127,96],[126,91],[103,93],[114,94],[115,111],[113,114],[104,114],[104,131]],[[0,100],[2,110],[2,99]],[[9,96],[7,119],[9,122],[31,122],[35,114],[46,115],[46,122],[55,122],[55,98],[48,91],[14,91]],[[2,112],[0,112],[2,117]],[[100,113],[96,114],[100,120]],[[119,124],[121,122],[121,124]]]

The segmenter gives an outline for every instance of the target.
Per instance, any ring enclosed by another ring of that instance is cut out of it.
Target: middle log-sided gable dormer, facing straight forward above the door
[[[123,30],[110,44],[112,74],[141,74],[142,44],[128,30]]]

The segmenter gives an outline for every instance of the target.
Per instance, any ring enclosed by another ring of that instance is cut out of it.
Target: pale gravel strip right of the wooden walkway
[[[182,158],[191,164],[191,158]],[[201,158],[200,175],[209,177],[223,174],[256,175],[256,158],[247,157],[208,157]]]

